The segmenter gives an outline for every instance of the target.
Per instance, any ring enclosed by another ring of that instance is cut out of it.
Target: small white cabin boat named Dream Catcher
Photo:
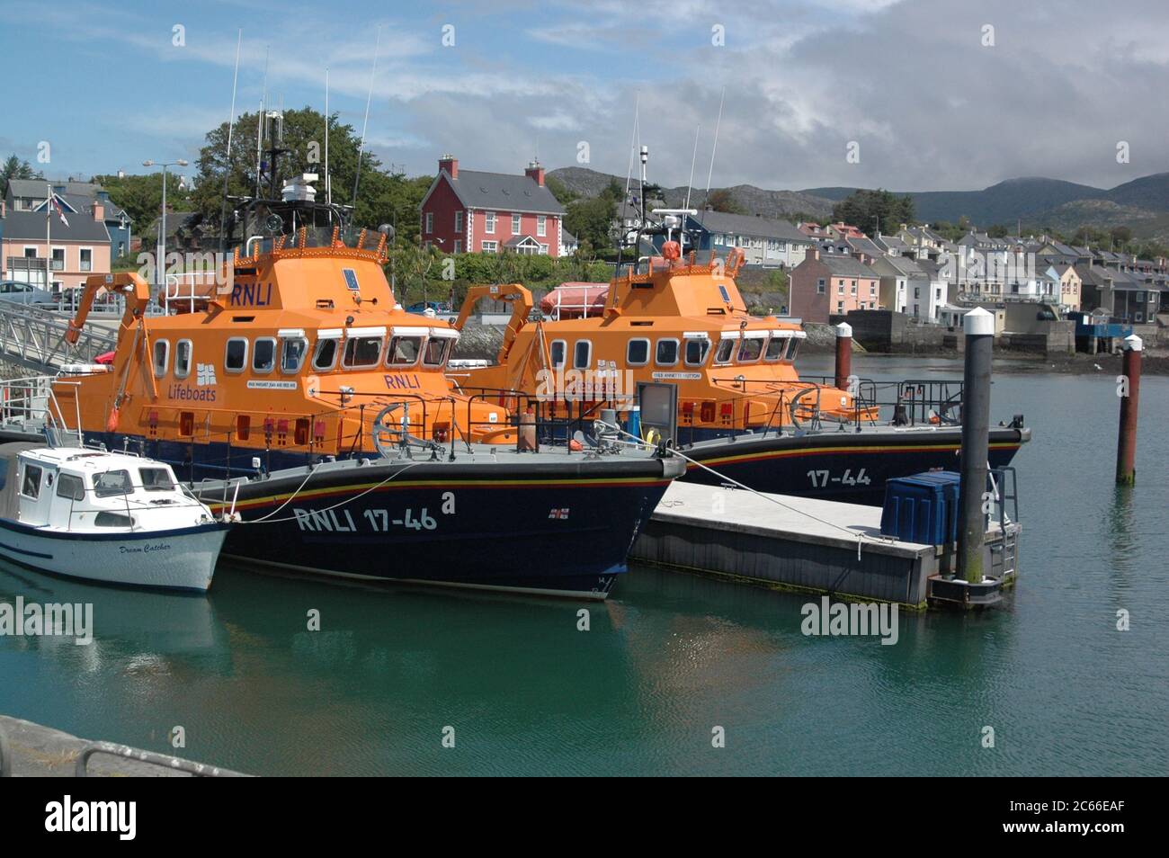
[[[57,575],[206,591],[227,525],[170,465],[82,447],[0,444],[0,556]]]

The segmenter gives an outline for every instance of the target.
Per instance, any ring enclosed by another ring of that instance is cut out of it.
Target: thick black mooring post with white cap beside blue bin
[[[990,364],[995,317],[982,307],[962,319],[966,332],[966,371],[962,383],[962,483],[959,499],[959,575],[981,583],[987,519],[982,496],[987,491],[990,455]]]

